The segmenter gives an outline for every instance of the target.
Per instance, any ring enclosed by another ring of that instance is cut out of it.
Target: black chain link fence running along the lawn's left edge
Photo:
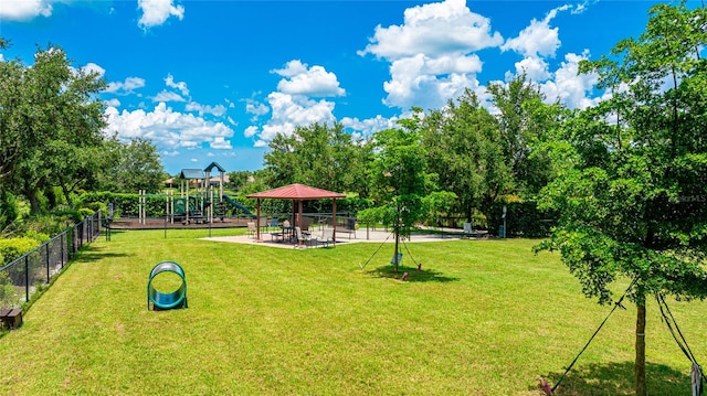
[[[101,212],[0,268],[0,308],[20,308],[102,232]]]

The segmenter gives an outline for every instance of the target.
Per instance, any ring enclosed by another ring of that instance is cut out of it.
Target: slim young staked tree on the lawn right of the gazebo
[[[409,238],[415,222],[425,215],[423,199],[431,192],[432,175],[426,173],[424,149],[419,131],[419,109],[412,119],[399,121],[402,128],[376,132],[376,156],[370,167],[371,194],[376,207],[362,216],[382,221],[395,234],[393,265],[398,272],[400,237]]]

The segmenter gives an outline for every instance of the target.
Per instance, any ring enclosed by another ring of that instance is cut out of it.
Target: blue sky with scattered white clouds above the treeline
[[[108,83],[107,132],[151,140],[171,174],[256,170],[277,132],[340,121],[370,136],[521,69],[549,101],[594,104],[577,63],[641,34],[655,3],[0,0],[0,60],[62,46]]]

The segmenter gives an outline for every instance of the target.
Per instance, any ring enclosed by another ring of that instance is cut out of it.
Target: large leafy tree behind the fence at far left
[[[36,212],[41,191],[66,190],[92,171],[85,165],[103,143],[104,105],[96,95],[105,83],[73,68],[52,46],[39,49],[31,67],[0,62],[0,184],[24,195]],[[84,161],[73,161],[77,156]]]

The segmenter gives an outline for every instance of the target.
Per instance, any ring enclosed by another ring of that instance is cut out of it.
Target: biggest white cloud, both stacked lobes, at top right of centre
[[[383,103],[409,109],[440,108],[465,88],[479,89],[483,62],[475,51],[503,44],[490,20],[472,12],[464,0],[413,7],[404,23],[377,26],[365,51],[391,62]]]

